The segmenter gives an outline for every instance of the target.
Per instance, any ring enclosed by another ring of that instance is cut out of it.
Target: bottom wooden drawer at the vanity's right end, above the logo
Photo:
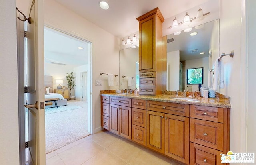
[[[221,165],[221,153],[215,149],[190,143],[190,165]]]

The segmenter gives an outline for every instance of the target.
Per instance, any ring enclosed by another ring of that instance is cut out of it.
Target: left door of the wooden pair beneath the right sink
[[[164,153],[164,113],[147,110],[146,146]]]

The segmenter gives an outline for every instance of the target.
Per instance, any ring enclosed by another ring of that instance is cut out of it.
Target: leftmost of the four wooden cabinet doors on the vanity
[[[110,131],[118,134],[118,105],[110,104]]]

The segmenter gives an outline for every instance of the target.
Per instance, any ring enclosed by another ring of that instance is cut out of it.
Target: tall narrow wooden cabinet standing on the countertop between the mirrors
[[[139,21],[139,79],[140,94],[156,95],[162,93],[163,65],[166,65],[165,53],[162,53],[162,22],[164,17],[155,8],[136,18]],[[164,44],[166,46],[166,44]],[[164,67],[165,68],[165,67]],[[151,78],[144,80],[145,78]],[[150,83],[143,83],[150,81]],[[145,87],[146,86],[146,87]],[[150,86],[150,87],[148,87]]]

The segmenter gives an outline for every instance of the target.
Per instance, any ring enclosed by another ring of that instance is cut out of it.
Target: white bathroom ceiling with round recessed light
[[[118,38],[139,31],[136,18],[158,7],[169,18],[209,0],[106,0],[108,10],[99,6],[100,0],[56,0],[86,20]]]

